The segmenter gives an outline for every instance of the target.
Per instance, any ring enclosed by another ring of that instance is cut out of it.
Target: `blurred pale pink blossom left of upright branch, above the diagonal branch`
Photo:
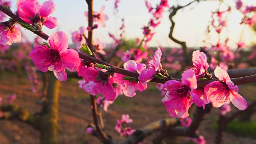
[[[72,32],[72,42],[78,43],[76,45],[76,49],[79,50],[81,48],[81,44],[86,44],[86,40],[84,37],[86,37],[86,28],[84,26],[81,26],[78,31]]]

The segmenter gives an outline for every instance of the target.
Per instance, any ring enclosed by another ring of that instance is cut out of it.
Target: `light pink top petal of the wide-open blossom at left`
[[[54,32],[49,36],[47,42],[51,48],[60,52],[68,49],[68,37],[65,32]]]

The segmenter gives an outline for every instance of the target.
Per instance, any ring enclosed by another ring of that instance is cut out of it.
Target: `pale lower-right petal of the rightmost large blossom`
[[[239,110],[245,110],[248,107],[246,100],[240,94],[234,94],[233,92],[230,92],[230,102]]]

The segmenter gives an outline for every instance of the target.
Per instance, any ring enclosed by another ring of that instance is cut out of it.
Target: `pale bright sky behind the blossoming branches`
[[[12,1],[12,11],[16,11],[16,0]],[[38,0],[41,4],[46,0]],[[88,6],[85,0],[53,0],[57,6],[56,12],[50,16],[58,18],[59,26],[54,29],[48,29],[43,26],[42,30],[48,35],[51,35],[55,31],[64,31],[69,38],[69,43],[72,44],[71,33],[78,30],[80,26],[88,26],[88,22],[84,16],[84,12],[88,11]],[[111,43],[112,39],[108,36],[108,32],[119,36],[120,31],[118,30],[121,25],[121,18],[125,21],[125,31],[124,36],[126,38],[143,38],[142,27],[147,25],[152,14],[148,13],[148,9],[145,6],[145,0],[121,0],[118,6],[118,14],[114,15],[114,1],[115,0],[94,0],[94,11],[99,11],[101,6],[105,6],[104,13],[108,15],[108,21],[106,21],[106,27],[98,27],[94,30],[93,38],[100,39],[101,42]],[[160,2],[160,0],[148,0],[152,3],[154,7]],[[178,0],[179,4],[186,4],[192,0]],[[232,3],[232,0],[224,0],[227,3]],[[246,4],[256,5],[256,0],[244,0]],[[177,0],[169,0],[169,5],[173,6],[177,4]],[[184,10],[179,10],[174,16],[174,21],[176,22],[174,28],[174,37],[178,40],[187,42],[188,47],[203,46],[202,41],[206,38],[205,30],[209,21],[211,19],[211,12],[216,11],[219,2],[208,1],[200,2],[199,4],[193,4],[185,8]],[[191,9],[193,8],[193,9]],[[239,18],[242,15],[239,12],[232,12],[229,17],[228,25],[230,26],[228,30],[224,31],[220,36],[223,41],[228,35],[230,38],[230,46],[235,46],[240,37],[247,45],[256,43],[256,34],[248,26],[241,26],[239,23]],[[156,34],[153,40],[148,44],[149,46],[180,46],[175,44],[168,38],[170,32],[170,20],[169,12],[163,15],[161,24],[155,29]],[[23,28],[22,28],[23,29]],[[244,29],[244,30],[243,30]],[[243,33],[242,33],[243,31]],[[33,40],[35,34],[29,31],[25,31],[29,38]],[[242,35],[242,36],[241,36]],[[216,34],[211,34],[210,42],[216,44],[218,36]]]

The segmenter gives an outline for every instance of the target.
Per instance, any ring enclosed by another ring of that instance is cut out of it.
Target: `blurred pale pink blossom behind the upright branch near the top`
[[[105,21],[108,20],[108,16],[103,13],[105,6],[102,6],[100,8],[100,12],[94,12],[94,16],[93,16],[93,22],[98,22],[100,24],[100,26],[105,27]],[[88,12],[84,12],[84,16],[86,17],[86,20],[88,20]]]

